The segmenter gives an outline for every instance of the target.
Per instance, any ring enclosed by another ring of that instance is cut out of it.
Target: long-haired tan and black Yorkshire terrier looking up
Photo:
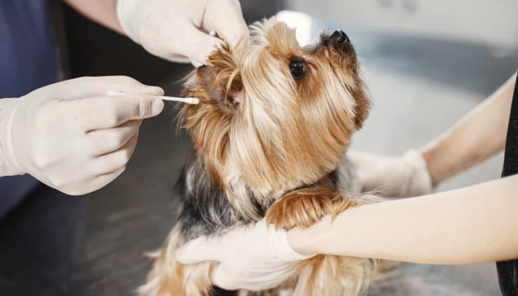
[[[200,235],[264,217],[278,229],[309,227],[381,200],[360,194],[351,166],[342,162],[370,105],[348,36],[322,33],[301,48],[295,31],[275,19],[250,30],[237,46],[215,51],[184,84],[185,95],[200,103],[180,112],[194,147],[175,187],[179,219],[154,254],[140,295],[211,294],[214,262],[175,259],[181,244]],[[282,288],[301,296],[357,295],[376,268],[374,259],[327,255],[293,264]]]

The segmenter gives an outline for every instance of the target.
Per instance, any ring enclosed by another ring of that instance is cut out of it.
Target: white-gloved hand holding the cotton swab
[[[107,97],[107,91],[132,95]],[[0,100],[0,157],[11,168],[3,174],[29,173],[70,195],[103,187],[124,171],[142,119],[162,112],[156,95],[163,95],[160,87],[113,76],[67,80]]]

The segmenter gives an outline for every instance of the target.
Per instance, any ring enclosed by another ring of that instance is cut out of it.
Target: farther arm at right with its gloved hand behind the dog
[[[516,74],[451,129],[402,157],[349,152],[364,190],[384,196],[430,194],[434,185],[503,150]]]

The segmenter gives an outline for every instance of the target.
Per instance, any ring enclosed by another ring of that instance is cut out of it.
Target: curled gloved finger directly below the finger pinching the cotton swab
[[[130,120],[117,127],[96,129],[88,132],[92,156],[99,156],[118,150],[137,132],[142,120]]]

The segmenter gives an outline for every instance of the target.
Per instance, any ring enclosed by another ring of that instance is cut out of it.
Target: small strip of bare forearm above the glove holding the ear
[[[117,19],[117,0],[63,0],[84,16],[124,34]]]

